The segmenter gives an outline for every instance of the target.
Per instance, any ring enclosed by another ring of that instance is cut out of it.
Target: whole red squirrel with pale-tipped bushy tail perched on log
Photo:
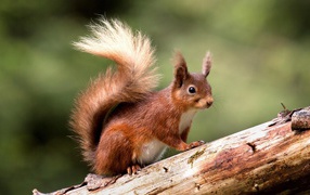
[[[175,79],[166,89],[158,86],[154,49],[140,31],[117,21],[102,18],[91,26],[92,36],[74,46],[114,61],[93,80],[75,103],[70,125],[78,134],[85,160],[95,173],[137,173],[160,159],[165,150],[186,151],[203,141],[186,143],[192,119],[198,109],[211,106],[211,56],[203,70],[191,74],[180,52],[175,56]]]

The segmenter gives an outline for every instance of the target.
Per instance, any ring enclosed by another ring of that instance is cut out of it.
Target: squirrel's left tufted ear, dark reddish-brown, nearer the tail
[[[189,77],[186,62],[180,52],[175,55],[175,84],[179,88],[183,86],[184,80]]]

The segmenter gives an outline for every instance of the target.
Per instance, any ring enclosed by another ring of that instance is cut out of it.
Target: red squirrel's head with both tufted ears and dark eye
[[[203,109],[212,105],[211,87],[206,79],[210,69],[211,56],[209,52],[207,52],[203,61],[201,74],[190,74],[182,54],[180,52],[176,53],[172,96],[180,105],[185,106],[185,109]]]

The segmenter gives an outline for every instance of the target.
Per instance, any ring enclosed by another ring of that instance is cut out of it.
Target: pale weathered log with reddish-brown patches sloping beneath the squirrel
[[[158,161],[106,187],[90,192],[83,185],[66,194],[310,193],[310,130],[271,123]]]

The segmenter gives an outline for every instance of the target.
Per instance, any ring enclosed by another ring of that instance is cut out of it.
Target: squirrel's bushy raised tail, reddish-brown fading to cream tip
[[[80,136],[83,157],[93,161],[104,119],[121,102],[142,100],[157,87],[159,76],[153,67],[155,58],[151,41],[117,20],[100,20],[91,26],[92,37],[83,37],[74,46],[85,52],[115,61],[76,100],[72,128]]]

